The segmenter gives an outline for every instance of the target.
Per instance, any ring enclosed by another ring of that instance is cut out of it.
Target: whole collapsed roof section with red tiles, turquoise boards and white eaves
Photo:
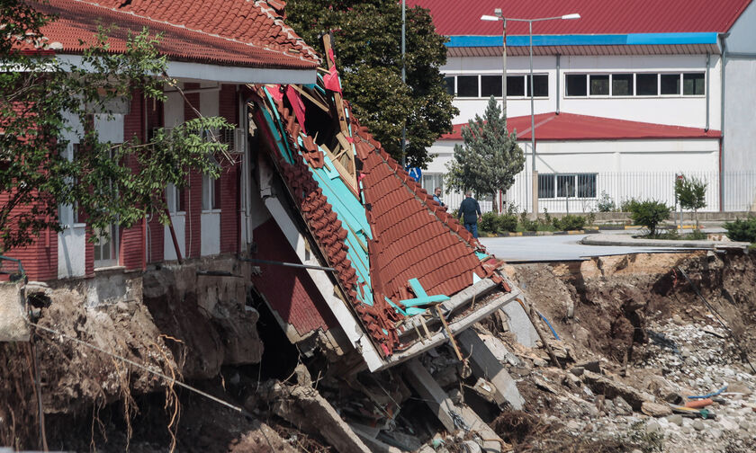
[[[317,84],[252,86],[250,117],[265,150],[260,200],[272,216],[254,231],[263,271],[253,283],[293,342],[330,331],[328,341],[343,344],[334,333],[343,330],[369,369],[383,369],[446,342],[519,291],[360,125],[341,97],[329,37],[325,44],[329,71]],[[282,236],[292,250],[281,250]],[[265,277],[271,260],[310,268],[277,267],[274,281]],[[286,281],[291,290],[281,288]]]

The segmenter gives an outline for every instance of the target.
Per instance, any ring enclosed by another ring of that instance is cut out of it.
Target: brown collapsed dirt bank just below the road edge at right
[[[743,342],[756,346],[756,333],[746,328],[756,324],[753,254],[638,253],[509,269],[576,353],[599,352],[623,363],[633,360],[634,345],[646,342],[650,317],[706,317],[707,307],[677,266]]]

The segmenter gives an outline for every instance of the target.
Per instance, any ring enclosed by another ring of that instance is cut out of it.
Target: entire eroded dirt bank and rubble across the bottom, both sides
[[[524,412],[500,413],[480,398],[476,404],[474,379],[451,349],[438,348],[422,360],[453,400],[468,398],[516,451],[661,451],[663,441],[666,451],[703,446],[735,452],[748,451],[741,447],[756,441],[756,420],[741,413],[741,402],[716,406],[720,418],[707,421],[703,431],[688,419],[677,425],[639,409],[646,401],[664,404],[680,395],[706,393],[725,379],[743,390],[743,404],[751,404],[746,392],[756,391],[756,373],[712,310],[732,328],[743,349],[752,351],[751,360],[756,358],[756,254],[636,254],[523,264],[508,271],[559,335],[560,341],[554,341],[541,324],[565,366],[549,363],[540,348],[518,345],[497,316],[475,327],[510,351],[502,360],[527,401]],[[163,373],[182,373],[193,385],[243,406],[267,424],[196,395],[166,393],[165,383],[155,377],[41,333],[36,354],[50,448],[122,451],[128,445],[131,451],[155,452],[170,449],[175,441],[180,451],[334,451],[278,418],[260,398],[262,367],[238,366],[259,360],[262,352],[253,328],[257,312],[245,305],[245,294],[233,278],[199,290],[197,282],[207,278],[194,270],[157,271],[145,279],[144,303],[88,306],[83,288],[50,289],[35,303],[41,309],[40,324]],[[0,347],[4,445],[40,448],[33,357],[28,346]],[[324,363],[308,362],[311,386],[347,420],[384,426],[394,439],[426,446],[443,431],[402,381],[401,367],[345,381]],[[399,410],[400,416],[388,422],[387,413]],[[401,425],[397,430],[394,422]],[[463,451],[454,448],[454,439],[446,437],[446,451]]]

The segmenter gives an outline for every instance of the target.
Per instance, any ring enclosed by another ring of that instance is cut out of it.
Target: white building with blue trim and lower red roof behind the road
[[[446,3],[419,2],[430,7],[442,33],[445,14],[437,11]],[[534,35],[540,211],[587,212],[597,209],[604,193],[617,206],[631,198],[673,205],[677,174],[707,181],[707,210],[756,209],[756,6],[739,4],[726,30],[717,29],[722,25],[709,30],[703,23],[689,32],[623,33],[617,26],[617,33],[579,34],[577,20],[569,21],[575,34]],[[477,9],[473,13],[480,17]],[[586,31],[593,31],[592,23]],[[459,127],[482,115],[491,95],[501,99],[501,35],[449,38],[442,72],[459,115],[455,133],[429,149],[437,158],[423,173],[428,191],[443,185],[454,146],[462,143]],[[527,35],[507,36],[507,116],[518,131],[526,166],[497,202],[530,211],[527,44]],[[461,195],[446,194],[446,199],[456,208]],[[490,201],[482,204],[491,209]]]

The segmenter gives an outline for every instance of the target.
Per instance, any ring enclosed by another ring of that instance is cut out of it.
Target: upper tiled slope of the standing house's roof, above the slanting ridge
[[[188,30],[203,31],[230,40],[277,51],[297,50],[315,61],[315,51],[291,27],[277,9],[279,2],[250,0],[83,0],[123,13],[169,22]],[[285,4],[285,3],[284,3]]]

